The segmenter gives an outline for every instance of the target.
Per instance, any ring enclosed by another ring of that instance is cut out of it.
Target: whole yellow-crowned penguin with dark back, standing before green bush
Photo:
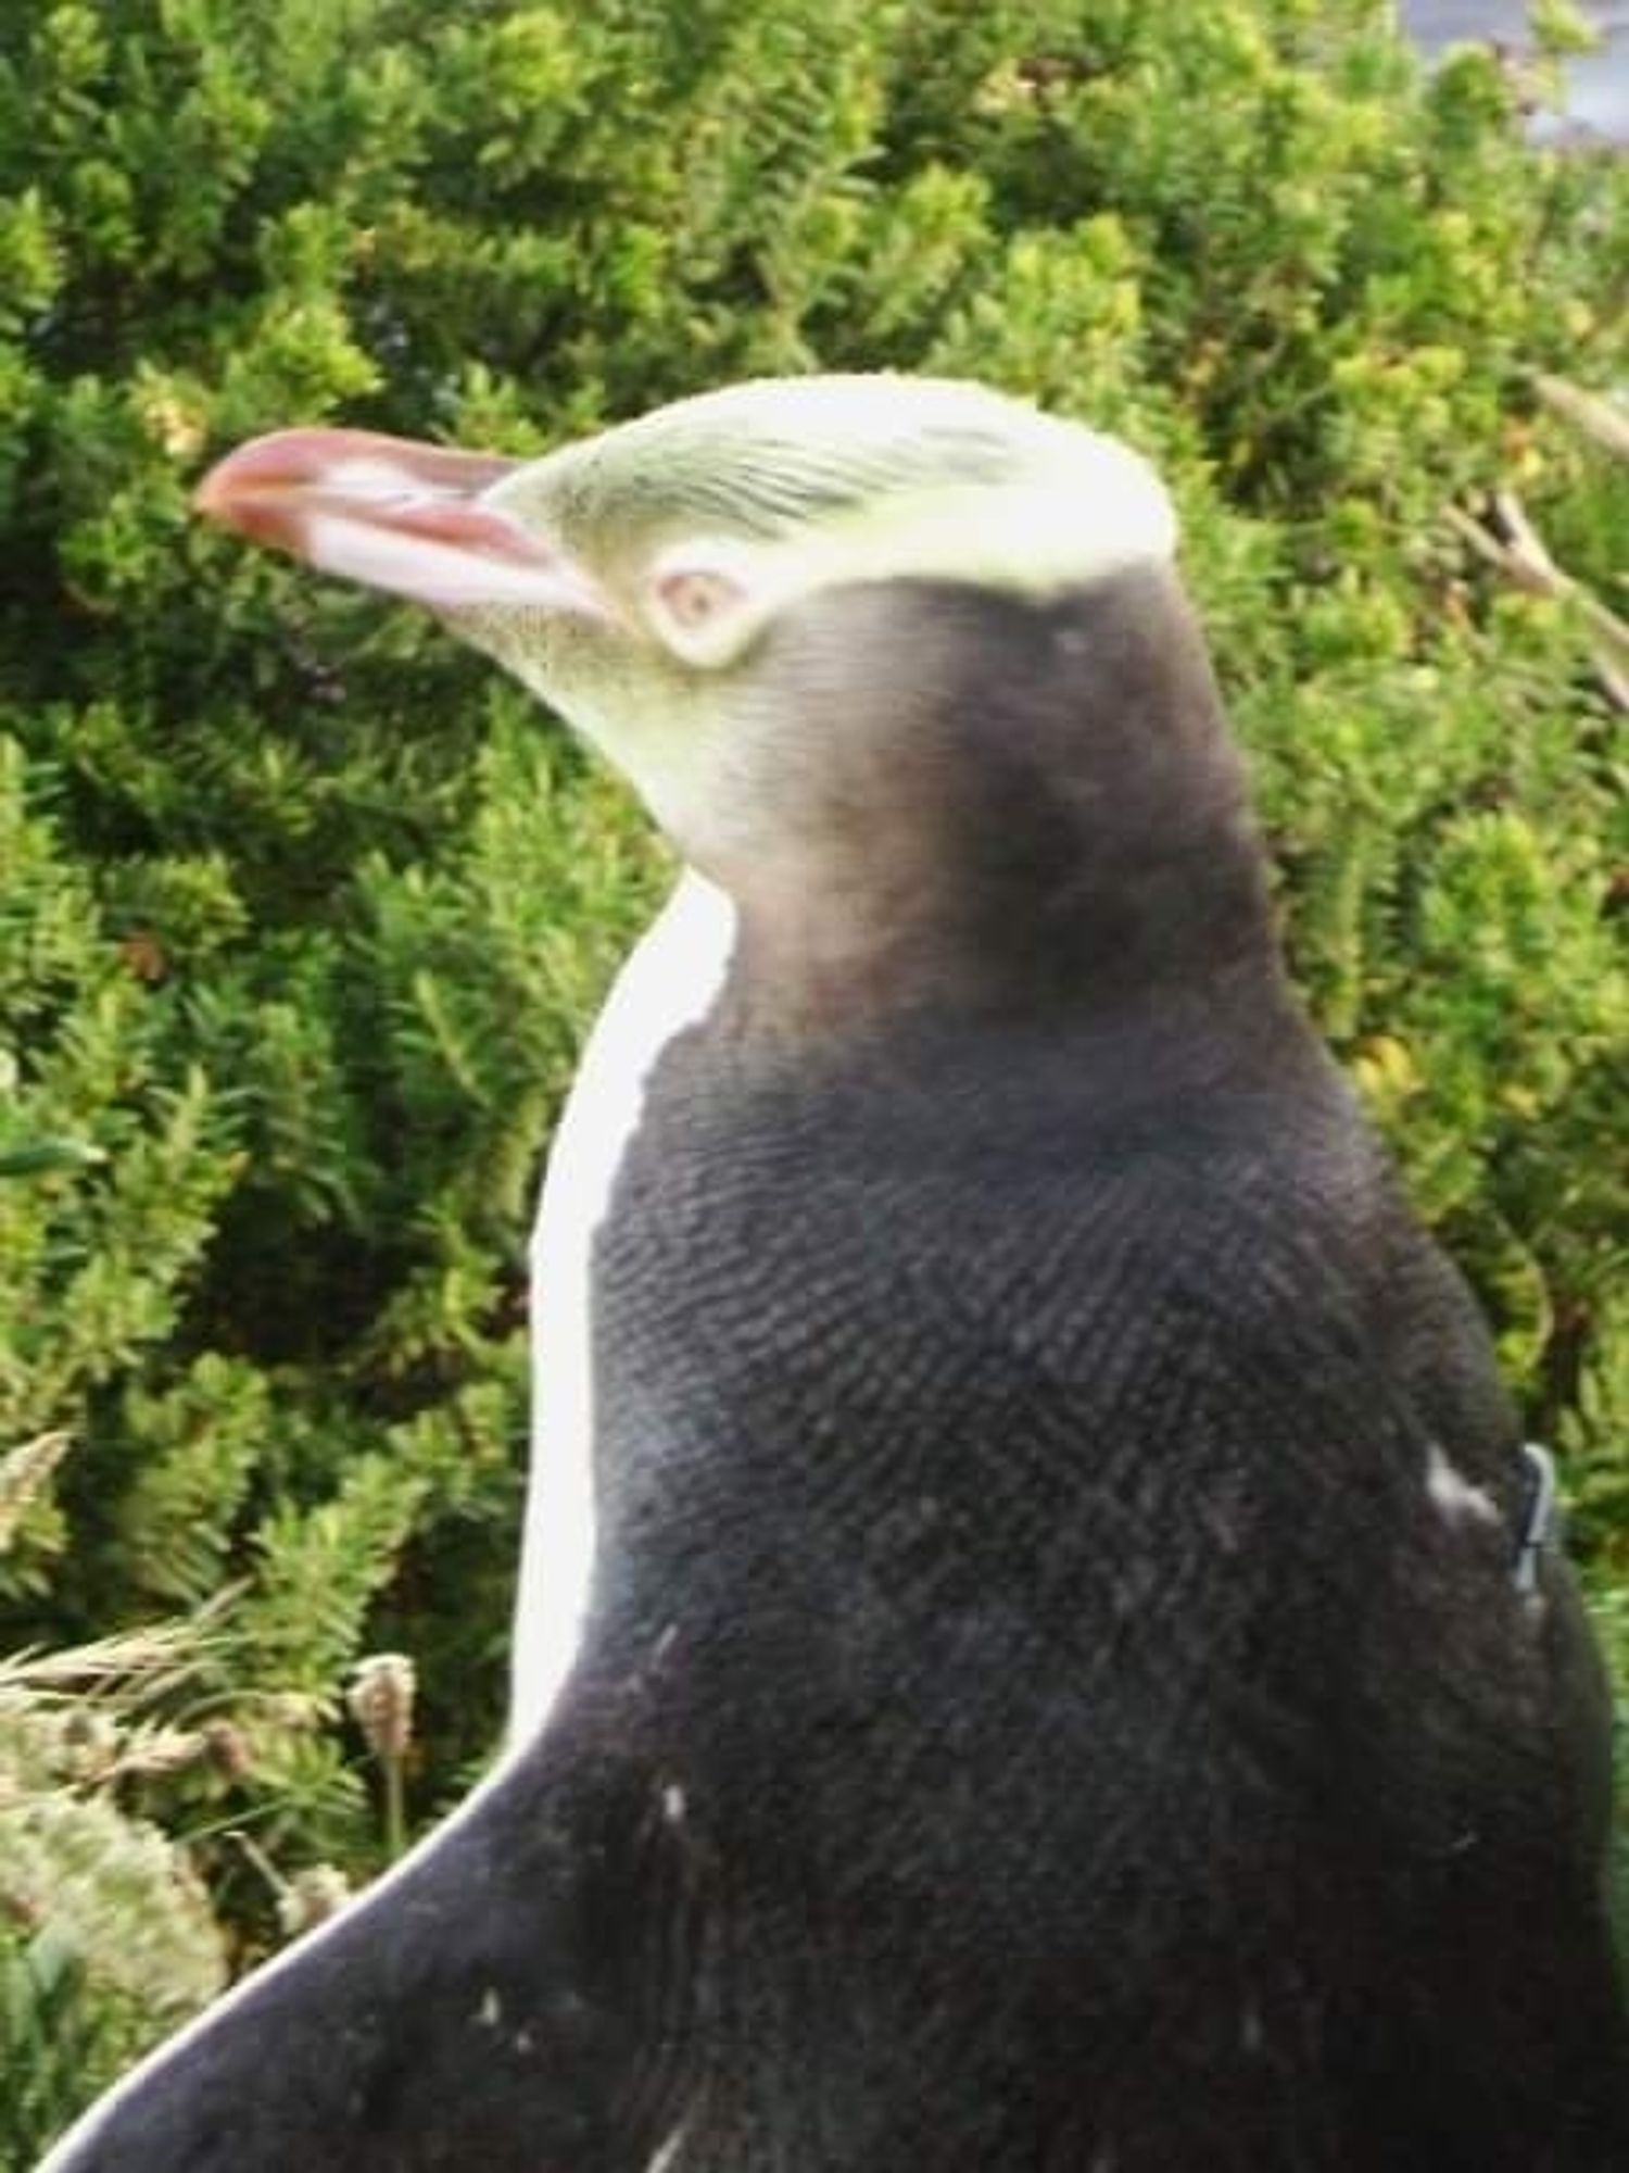
[[[48,2173],[1629,2166],[1601,1667],[1151,467],[810,376],[198,506],[684,876],[545,1180],[508,1747]]]

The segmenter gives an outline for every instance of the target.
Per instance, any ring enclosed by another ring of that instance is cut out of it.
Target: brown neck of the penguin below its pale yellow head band
[[[719,874],[767,1002],[1281,1002],[1242,767],[1175,576],[1047,604],[836,591],[765,669],[806,739],[775,750],[775,852]]]

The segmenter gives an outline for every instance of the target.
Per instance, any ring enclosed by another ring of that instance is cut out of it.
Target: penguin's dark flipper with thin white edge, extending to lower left
[[[39,2173],[621,2173],[667,2119],[682,1864],[554,1730],[117,2084]],[[652,2004],[662,2027],[654,2027]]]

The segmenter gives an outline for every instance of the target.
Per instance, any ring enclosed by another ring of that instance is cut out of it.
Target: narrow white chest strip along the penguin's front
[[[599,1013],[554,1132],[532,1232],[532,1465],[515,1606],[510,1741],[536,1734],[571,1671],[589,1604],[593,1499],[593,1241],[667,1043],[712,1008],[734,906],[686,871]]]

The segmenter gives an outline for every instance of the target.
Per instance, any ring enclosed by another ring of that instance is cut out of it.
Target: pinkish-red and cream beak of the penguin
[[[569,552],[487,504],[521,465],[374,430],[274,430],[211,467],[193,511],[430,611],[530,606],[613,619]]]

